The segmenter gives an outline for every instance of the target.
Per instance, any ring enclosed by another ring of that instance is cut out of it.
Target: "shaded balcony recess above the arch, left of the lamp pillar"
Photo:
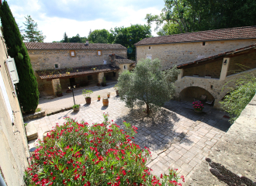
[[[221,67],[223,60],[218,60],[209,64],[202,64],[195,67],[188,67],[184,69],[184,76],[193,76],[199,74],[199,77],[210,75],[213,78],[220,78]]]

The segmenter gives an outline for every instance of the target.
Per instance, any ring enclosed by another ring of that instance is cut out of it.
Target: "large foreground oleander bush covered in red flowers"
[[[93,126],[66,118],[39,141],[26,170],[26,185],[182,185],[176,170],[161,178],[150,174],[145,165],[150,150],[131,140],[135,126],[123,122],[124,131],[103,116],[105,121]]]

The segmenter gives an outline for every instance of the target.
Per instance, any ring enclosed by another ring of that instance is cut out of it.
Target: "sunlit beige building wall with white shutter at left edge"
[[[0,31],[1,32],[1,31]],[[0,184],[25,185],[24,171],[29,166],[26,133],[16,95],[14,62],[8,57],[0,36]]]

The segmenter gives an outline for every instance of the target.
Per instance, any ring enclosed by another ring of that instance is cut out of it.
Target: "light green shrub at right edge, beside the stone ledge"
[[[223,90],[228,89],[228,94],[220,102],[222,108],[230,114],[230,123],[233,123],[251,101],[256,93],[256,77],[249,73],[234,81],[228,81]]]

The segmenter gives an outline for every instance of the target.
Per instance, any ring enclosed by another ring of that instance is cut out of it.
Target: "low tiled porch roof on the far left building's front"
[[[95,68],[95,70],[93,70]],[[117,71],[119,67],[114,67],[110,64],[90,66],[90,67],[75,67],[64,68],[59,70],[36,71],[36,73],[43,79],[56,79],[61,77],[74,77],[83,74],[97,74],[99,72]]]

